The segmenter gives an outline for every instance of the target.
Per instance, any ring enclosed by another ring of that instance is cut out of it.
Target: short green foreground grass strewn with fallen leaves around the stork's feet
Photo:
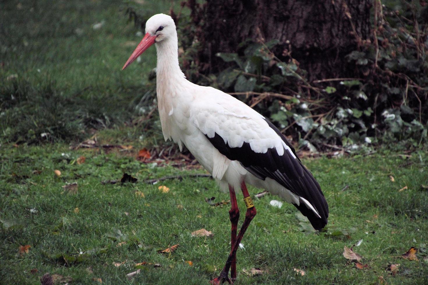
[[[293,206],[273,208],[271,195],[255,199],[258,212],[242,241],[245,250],[238,250],[236,284],[374,284],[378,276],[388,284],[424,284],[428,192],[421,185],[428,184],[428,153],[420,150],[410,158],[398,154],[380,150],[372,156],[304,160],[330,206],[327,232],[302,232]],[[81,165],[76,162],[79,156],[86,157]],[[0,219],[16,219],[10,228],[0,225],[0,279],[5,284],[38,284],[46,272],[70,276],[70,284],[94,284],[93,278],[107,284],[206,284],[223,267],[229,251],[230,205],[213,207],[204,199],[228,200],[229,195],[219,192],[209,178],[143,183],[167,175],[203,173],[202,169],[158,167],[137,161],[136,152],[71,151],[62,144],[3,146],[0,157]],[[56,169],[61,176],[53,173]],[[120,179],[125,172],[139,182],[101,184]],[[67,182],[78,183],[77,194],[63,193],[61,186]],[[162,193],[159,185],[170,191]],[[349,188],[341,191],[345,185]],[[404,186],[407,189],[399,191]],[[136,197],[135,191],[145,197]],[[251,194],[257,192],[250,188]],[[241,198],[238,193],[242,221]],[[201,228],[212,231],[214,237],[190,236]],[[122,246],[109,237],[117,229],[128,235]],[[351,233],[329,234],[344,231]],[[369,265],[366,270],[355,268],[342,256],[344,246],[351,247],[360,239],[362,244],[354,250]],[[27,244],[31,245],[29,253],[20,255],[18,247]],[[157,252],[174,244],[180,245],[169,255]],[[419,261],[395,257],[412,246],[419,249]],[[77,261],[70,259],[86,250],[93,252]],[[123,261],[119,267],[113,265]],[[126,274],[143,261],[161,267],[145,265],[134,281],[128,281]],[[193,266],[185,261],[192,261]],[[395,276],[386,271],[391,263],[401,264]],[[269,273],[243,273],[252,267]],[[38,272],[30,273],[33,268]],[[296,275],[293,268],[304,270],[305,276]]]

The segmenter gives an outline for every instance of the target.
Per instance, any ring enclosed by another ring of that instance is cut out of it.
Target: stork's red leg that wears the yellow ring
[[[248,194],[247,187],[245,186],[245,182],[243,181],[241,183],[241,190],[242,194],[244,194],[244,197],[249,197],[250,194]],[[241,242],[242,238],[244,237],[245,231],[247,230],[248,226],[251,223],[251,220],[253,220],[254,216],[256,216],[256,207],[251,206],[248,208],[247,205],[247,213],[245,214],[245,220],[244,223],[241,226],[241,229],[239,230],[238,236],[236,237],[235,245],[232,249],[232,251],[229,254],[229,257],[227,258],[226,264],[223,267],[223,270],[220,273],[220,276],[216,279],[211,281],[211,284],[222,284],[223,282],[227,281],[229,283],[232,283],[229,279],[229,270],[232,265],[232,261],[236,258],[236,251],[238,250],[239,243]]]

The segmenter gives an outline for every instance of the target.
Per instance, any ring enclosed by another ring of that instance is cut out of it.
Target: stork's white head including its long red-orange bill
[[[174,20],[165,14],[153,15],[146,22],[146,35],[143,40],[138,44],[137,48],[131,54],[129,59],[126,61],[122,70],[130,65],[137,57],[139,57],[145,50],[147,50],[152,44],[164,41],[175,34]]]

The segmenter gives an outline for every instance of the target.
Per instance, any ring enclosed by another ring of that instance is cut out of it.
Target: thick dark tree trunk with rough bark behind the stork
[[[217,72],[224,63],[215,53],[237,52],[248,38],[277,39],[276,56],[291,55],[309,80],[351,76],[344,56],[369,38],[370,7],[370,0],[208,0],[191,14],[202,23],[198,40],[208,47],[199,61]]]

